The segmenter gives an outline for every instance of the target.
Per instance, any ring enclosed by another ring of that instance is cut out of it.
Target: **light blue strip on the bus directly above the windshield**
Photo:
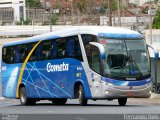
[[[112,38],[112,39],[142,39],[141,34],[117,34],[117,33],[98,33],[98,37]]]

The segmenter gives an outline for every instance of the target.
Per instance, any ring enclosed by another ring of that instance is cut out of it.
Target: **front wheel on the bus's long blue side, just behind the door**
[[[84,94],[84,90],[83,90],[82,85],[79,86],[78,99],[79,99],[79,104],[81,106],[86,106],[87,105],[87,99],[85,99],[85,94]]]

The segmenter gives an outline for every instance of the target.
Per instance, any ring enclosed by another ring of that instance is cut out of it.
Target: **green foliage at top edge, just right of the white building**
[[[27,8],[42,8],[40,0],[26,0]]]

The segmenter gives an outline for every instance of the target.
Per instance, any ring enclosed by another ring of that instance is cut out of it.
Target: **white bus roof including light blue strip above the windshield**
[[[143,35],[140,33],[120,27],[111,26],[71,26],[65,28],[62,27],[60,30],[55,30],[53,32],[45,33],[42,35],[37,35],[23,39],[20,41],[14,41],[4,44],[4,46],[24,44],[29,42],[37,42],[39,40],[49,40],[54,38],[67,37],[77,34],[93,34],[98,37],[112,38],[112,39],[141,39]]]

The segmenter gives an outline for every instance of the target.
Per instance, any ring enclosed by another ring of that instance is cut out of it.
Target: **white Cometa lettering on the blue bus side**
[[[57,72],[57,71],[68,71],[69,64],[65,64],[64,62],[59,65],[52,65],[51,63],[47,64],[47,72]]]

